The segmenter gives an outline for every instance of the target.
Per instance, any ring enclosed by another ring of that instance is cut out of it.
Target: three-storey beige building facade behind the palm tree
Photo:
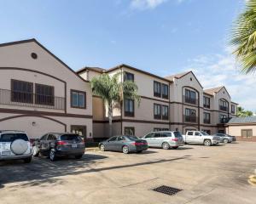
[[[159,77],[130,65],[105,70],[84,67],[77,73],[90,81],[102,73],[120,72],[119,80],[137,84],[141,104],[125,99],[113,111],[113,134],[133,133],[143,136],[150,131],[204,130],[224,133],[225,124],[236,116],[237,104],[224,87],[204,90],[192,71]],[[102,99],[93,96],[93,132],[95,138],[108,135],[108,111]]]

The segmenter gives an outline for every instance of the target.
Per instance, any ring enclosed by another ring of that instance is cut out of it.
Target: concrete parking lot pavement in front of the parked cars
[[[87,151],[81,160],[0,162],[0,203],[256,203],[247,178],[256,143],[185,145],[142,154]],[[167,185],[182,191],[165,195]]]

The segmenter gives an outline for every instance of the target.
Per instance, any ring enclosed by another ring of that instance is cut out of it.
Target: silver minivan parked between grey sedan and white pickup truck
[[[143,139],[148,142],[149,147],[161,147],[165,150],[177,149],[184,145],[183,136],[178,131],[160,131],[146,134]]]

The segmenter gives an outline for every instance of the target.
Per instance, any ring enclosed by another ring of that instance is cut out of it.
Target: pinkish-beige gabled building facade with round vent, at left
[[[92,138],[90,83],[35,39],[0,45],[0,129]]]

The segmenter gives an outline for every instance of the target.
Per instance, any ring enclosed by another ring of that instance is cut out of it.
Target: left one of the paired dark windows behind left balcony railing
[[[11,101],[20,103],[33,103],[33,83],[11,80]]]

